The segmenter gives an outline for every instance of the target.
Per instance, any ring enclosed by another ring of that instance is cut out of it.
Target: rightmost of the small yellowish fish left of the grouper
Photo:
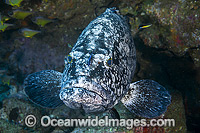
[[[55,20],[44,17],[36,17],[32,19],[32,22],[39,25],[40,27],[44,27],[48,23],[55,22]]]

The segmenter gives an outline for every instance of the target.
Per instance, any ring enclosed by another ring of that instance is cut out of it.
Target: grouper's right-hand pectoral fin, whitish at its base
[[[130,90],[121,101],[134,114],[154,118],[167,110],[171,96],[159,83],[153,80],[140,80],[130,85]]]

